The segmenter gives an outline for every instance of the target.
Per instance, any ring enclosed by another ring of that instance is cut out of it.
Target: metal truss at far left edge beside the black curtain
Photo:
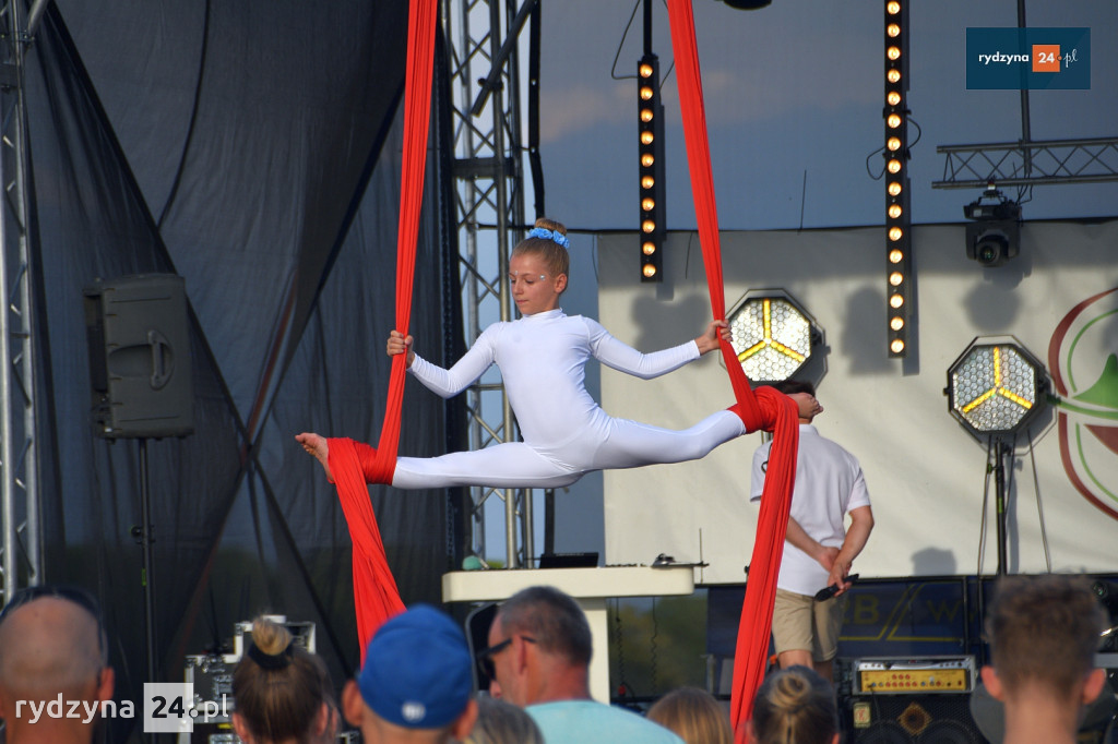
[[[25,25],[20,0],[0,9],[0,530],[3,532],[3,601],[21,585],[42,575],[36,452],[34,325],[30,293],[30,213],[27,192],[27,109],[23,55],[42,2],[36,2]]]

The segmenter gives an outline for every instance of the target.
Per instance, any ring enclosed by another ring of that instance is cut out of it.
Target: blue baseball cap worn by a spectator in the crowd
[[[417,604],[382,624],[364,652],[358,688],[385,721],[405,728],[442,728],[473,695],[470,649],[445,612]]]

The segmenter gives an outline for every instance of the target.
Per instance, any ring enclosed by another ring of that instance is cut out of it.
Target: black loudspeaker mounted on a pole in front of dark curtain
[[[193,433],[182,277],[98,279],[84,295],[94,433],[110,439]]]

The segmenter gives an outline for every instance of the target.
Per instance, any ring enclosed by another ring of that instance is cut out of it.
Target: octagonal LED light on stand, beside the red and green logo
[[[978,439],[1023,431],[1043,410],[1044,365],[1015,338],[975,338],[947,369],[947,407]]]

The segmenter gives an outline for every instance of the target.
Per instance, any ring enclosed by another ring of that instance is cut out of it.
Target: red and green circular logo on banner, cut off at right
[[[1118,287],[1088,297],[1060,321],[1049,371],[1061,398],[1057,425],[1076,489],[1118,519]]]

